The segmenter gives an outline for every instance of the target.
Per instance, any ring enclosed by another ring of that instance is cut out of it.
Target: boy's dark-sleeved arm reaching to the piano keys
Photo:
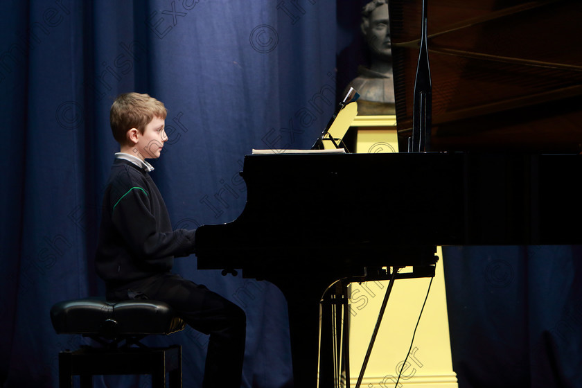
[[[136,257],[151,264],[161,263],[168,256],[194,253],[194,230],[160,231],[152,214],[148,193],[134,187],[114,204],[112,221],[127,247]]]

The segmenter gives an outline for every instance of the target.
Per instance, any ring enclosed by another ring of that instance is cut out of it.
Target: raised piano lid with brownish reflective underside
[[[580,152],[582,1],[427,1],[432,150]],[[412,134],[422,0],[389,6],[404,139]]]

